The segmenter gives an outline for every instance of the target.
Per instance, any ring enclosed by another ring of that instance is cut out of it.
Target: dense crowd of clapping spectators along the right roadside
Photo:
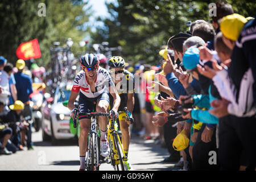
[[[135,94],[133,131],[164,140],[164,162],[185,171],[255,170],[256,22],[226,2],[216,10],[211,23],[195,20],[172,35],[157,69],[134,67],[155,80]]]

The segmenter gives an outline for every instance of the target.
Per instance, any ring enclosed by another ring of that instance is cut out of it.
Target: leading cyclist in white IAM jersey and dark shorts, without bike
[[[71,117],[73,118],[74,111],[76,110],[74,102],[79,94],[79,122],[81,127],[79,138],[80,171],[85,170],[87,137],[90,129],[90,118],[82,113],[92,112],[93,102],[96,102],[96,112],[106,113],[109,107],[108,93],[110,93],[114,98],[111,111],[114,111],[114,117],[117,118],[117,110],[121,101],[108,71],[99,67],[99,62],[98,57],[93,54],[86,54],[81,57],[80,65],[82,71],[77,73],[75,77],[68,101],[68,108],[71,110]],[[106,139],[108,117],[99,116],[98,124],[101,130],[101,155],[106,157],[109,155],[109,143]]]

